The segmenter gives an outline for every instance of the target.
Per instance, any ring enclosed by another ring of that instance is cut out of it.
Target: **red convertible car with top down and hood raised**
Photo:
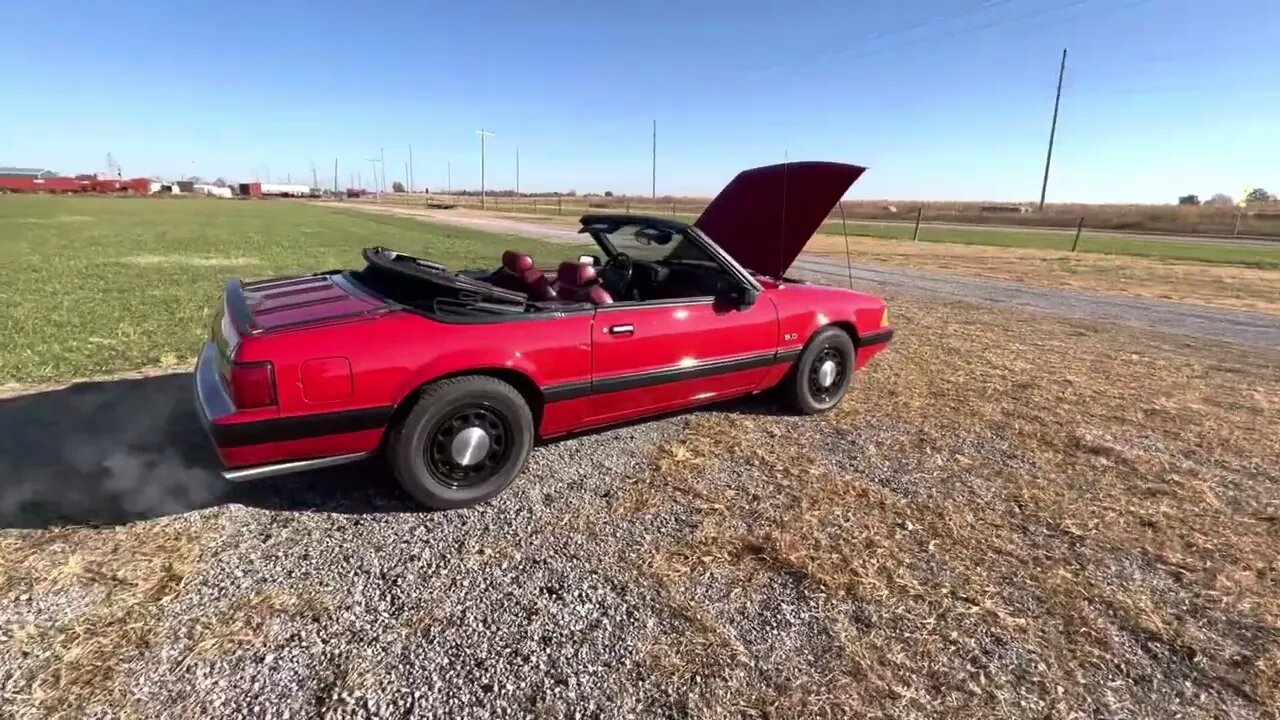
[[[785,273],[863,170],[745,170],[692,224],[585,215],[599,254],[554,272],[370,247],[358,270],[233,279],[195,375],[223,474],[383,452],[417,501],[463,507],[539,438],[768,389],[828,410],[888,343],[888,311]]]

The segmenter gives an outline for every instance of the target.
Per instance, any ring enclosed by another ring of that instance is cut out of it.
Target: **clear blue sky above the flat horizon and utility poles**
[[[712,193],[835,159],[850,197],[1280,190],[1280,3],[0,3],[0,164],[339,184]]]

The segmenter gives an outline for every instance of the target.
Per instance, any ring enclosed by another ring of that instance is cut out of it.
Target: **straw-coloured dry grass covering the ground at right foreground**
[[[695,518],[648,548],[684,618],[654,670],[780,716],[1276,716],[1280,359],[891,300],[899,338],[812,420],[855,457],[710,415],[622,503]],[[780,582],[829,652],[746,647],[723,606]]]

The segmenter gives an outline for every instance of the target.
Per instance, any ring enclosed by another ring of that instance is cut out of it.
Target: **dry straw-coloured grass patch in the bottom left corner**
[[[119,674],[157,641],[156,621],[198,561],[166,523],[0,533],[0,602],[40,598],[50,621],[8,628],[0,716],[84,717],[122,702]]]

